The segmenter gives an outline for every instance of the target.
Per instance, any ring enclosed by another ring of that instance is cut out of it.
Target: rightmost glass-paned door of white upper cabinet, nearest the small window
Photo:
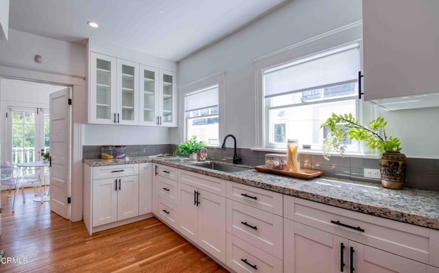
[[[160,88],[162,93],[159,98],[161,109],[159,123],[162,126],[176,127],[176,73],[161,70]]]

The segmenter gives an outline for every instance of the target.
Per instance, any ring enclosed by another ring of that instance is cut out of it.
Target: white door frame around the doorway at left
[[[71,222],[82,221],[82,125],[85,123],[86,90],[85,77],[40,70],[24,66],[13,66],[0,62],[0,77],[52,83],[58,86],[71,87]],[[1,80],[1,79],[0,79]],[[0,98],[1,99],[1,98]],[[5,109],[0,109],[3,114]],[[5,127],[0,127],[0,130]],[[0,131],[1,133],[1,131]]]

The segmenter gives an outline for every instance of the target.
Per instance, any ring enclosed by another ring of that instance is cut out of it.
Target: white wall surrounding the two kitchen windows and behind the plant
[[[257,146],[257,101],[252,60],[361,18],[361,1],[291,1],[241,31],[182,60],[179,86],[225,70],[224,134],[233,133],[239,148],[252,148]],[[179,109],[181,116],[181,104]],[[439,158],[438,118],[432,120],[432,117],[439,116],[439,108],[385,112],[383,116],[389,121],[388,134],[401,139],[402,152],[408,157]],[[172,141],[180,142],[182,129],[173,133]]]

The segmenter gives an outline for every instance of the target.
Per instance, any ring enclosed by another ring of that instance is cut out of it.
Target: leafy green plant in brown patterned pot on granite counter
[[[402,189],[407,159],[403,153],[399,153],[401,151],[399,139],[385,134],[386,125],[387,122],[382,117],[364,126],[360,125],[359,120],[355,119],[352,114],[333,113],[320,126],[328,131],[327,138],[323,142],[324,158],[329,159],[331,149],[343,156],[348,139],[364,141],[368,148],[376,149],[381,155],[379,159],[381,185],[390,189]]]

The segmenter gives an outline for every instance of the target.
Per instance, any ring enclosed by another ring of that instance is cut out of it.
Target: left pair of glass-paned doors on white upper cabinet
[[[91,53],[89,122],[139,125],[139,66]]]

